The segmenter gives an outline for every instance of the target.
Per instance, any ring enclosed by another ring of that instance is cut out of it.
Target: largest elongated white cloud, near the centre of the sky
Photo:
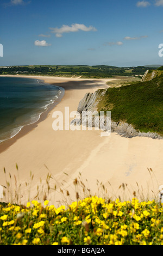
[[[72,24],[71,26],[68,25],[62,25],[61,28],[49,28],[51,29],[52,33],[55,33],[55,36],[61,37],[63,33],[70,33],[70,32],[78,32],[81,31],[97,31],[95,27],[89,26],[86,27],[84,24]]]

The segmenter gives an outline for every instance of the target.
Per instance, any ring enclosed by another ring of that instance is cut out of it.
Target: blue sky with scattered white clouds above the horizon
[[[0,0],[0,9],[0,66],[163,65],[163,0]]]

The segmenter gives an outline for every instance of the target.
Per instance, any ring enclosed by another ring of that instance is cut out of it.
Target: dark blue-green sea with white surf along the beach
[[[38,121],[62,90],[34,78],[0,76],[0,143]]]

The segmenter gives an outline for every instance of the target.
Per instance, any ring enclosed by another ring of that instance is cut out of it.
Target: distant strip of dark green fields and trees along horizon
[[[82,78],[107,78],[112,76],[138,76],[142,77],[148,68],[138,67],[116,67],[116,66],[64,66],[64,65],[29,65],[0,67],[0,75],[48,75]]]

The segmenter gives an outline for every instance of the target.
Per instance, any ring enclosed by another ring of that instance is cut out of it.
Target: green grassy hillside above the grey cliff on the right
[[[109,88],[98,111],[111,111],[113,121],[125,121],[141,132],[163,135],[163,74],[146,82]]]

